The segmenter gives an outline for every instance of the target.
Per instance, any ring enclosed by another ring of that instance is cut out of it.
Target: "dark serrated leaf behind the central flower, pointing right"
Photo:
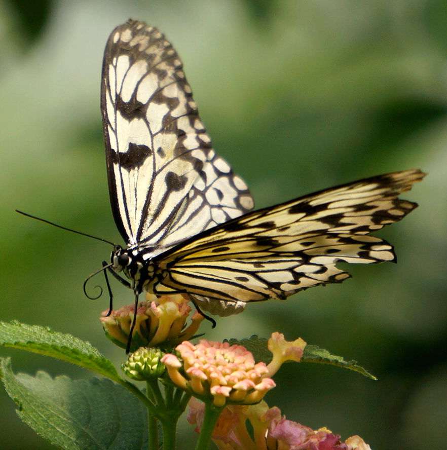
[[[242,345],[249,352],[253,354],[256,362],[263,361],[268,364],[272,360],[272,354],[267,348],[268,339],[265,337],[258,337],[256,335],[251,336],[249,339],[230,339],[230,345]],[[286,361],[291,362],[291,361]],[[327,350],[320,349],[316,345],[307,345],[304,349],[304,355],[301,358],[301,362],[315,362],[319,364],[330,364],[342,367],[345,369],[354,370],[361,373],[365,377],[371,380],[377,380],[377,378],[369,373],[365,368],[359,366],[357,361],[345,361],[341,356],[332,355]]]

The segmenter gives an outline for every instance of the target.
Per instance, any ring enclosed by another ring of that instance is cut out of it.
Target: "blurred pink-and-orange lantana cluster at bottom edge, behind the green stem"
[[[188,422],[200,433],[205,404],[192,398]],[[247,430],[250,424],[251,433]],[[221,413],[212,434],[218,450],[371,450],[360,436],[344,442],[327,428],[312,430],[281,416],[265,401],[256,405],[229,405]]]

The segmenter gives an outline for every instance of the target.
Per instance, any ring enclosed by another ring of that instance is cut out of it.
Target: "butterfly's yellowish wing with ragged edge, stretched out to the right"
[[[367,178],[224,223],[162,255],[165,278],[155,291],[186,290],[208,309],[200,296],[235,303],[285,298],[348,278],[338,262],[394,261],[393,247],[368,233],[417,206],[397,195],[423,176],[408,170]]]

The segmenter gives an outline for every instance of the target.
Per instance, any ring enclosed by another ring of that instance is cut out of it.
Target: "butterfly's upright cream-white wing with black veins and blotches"
[[[128,21],[107,42],[101,110],[107,178],[128,248],[151,256],[253,207],[215,155],[182,63],[156,28]]]

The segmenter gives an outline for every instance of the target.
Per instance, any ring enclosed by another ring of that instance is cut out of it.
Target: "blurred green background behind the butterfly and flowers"
[[[102,52],[129,17],[159,27],[180,54],[214,146],[257,207],[357,178],[421,168],[403,197],[420,207],[380,232],[399,263],[350,267],[342,285],[254,304],[205,325],[207,339],[285,333],[356,359],[379,378],[286,364],[267,402],[372,448],[443,448],[447,422],[447,3],[444,0],[0,0],[2,298],[18,319],[104,339],[104,297],[85,277],[105,244],[27,219],[15,208],[121,242],[109,209],[99,111]],[[100,279],[98,279],[100,280]],[[116,306],[132,302],[113,286]],[[0,349],[16,371],[89,373]],[[52,448],[0,391],[2,448]],[[101,414],[97,411],[97,414]],[[6,432],[7,431],[7,432]],[[191,448],[189,425],[179,448]]]

